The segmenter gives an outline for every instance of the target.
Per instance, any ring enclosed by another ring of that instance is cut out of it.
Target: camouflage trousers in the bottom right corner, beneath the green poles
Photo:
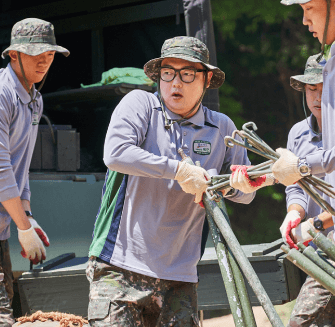
[[[328,234],[333,243],[333,233]],[[328,261],[335,266],[335,262]],[[335,326],[335,296],[314,278],[307,277],[297,297],[287,327],[331,327]]]

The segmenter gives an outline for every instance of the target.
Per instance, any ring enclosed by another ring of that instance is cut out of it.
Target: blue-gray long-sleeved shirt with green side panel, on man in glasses
[[[168,119],[180,116],[167,109]],[[205,210],[174,180],[182,148],[210,174],[229,173],[231,164],[249,165],[245,149],[227,148],[235,130],[224,114],[202,106],[170,129],[156,95],[135,90],[113,112],[105,140],[109,168],[90,255],[155,278],[197,282]],[[124,174],[119,189],[116,174]],[[114,185],[114,189],[113,189]],[[232,200],[249,203],[238,191]]]

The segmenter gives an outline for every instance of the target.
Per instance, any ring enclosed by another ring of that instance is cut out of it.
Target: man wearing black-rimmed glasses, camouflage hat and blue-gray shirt
[[[134,90],[114,110],[105,140],[108,167],[87,277],[91,326],[199,326],[197,263],[207,239],[198,205],[210,175],[249,165],[242,147],[226,148],[235,130],[201,104],[224,73],[209,65],[198,39],[166,40],[144,66],[155,94]],[[180,162],[182,148],[201,167]],[[254,193],[224,194],[249,203]]]

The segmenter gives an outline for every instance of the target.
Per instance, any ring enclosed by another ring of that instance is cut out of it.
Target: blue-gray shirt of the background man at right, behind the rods
[[[322,150],[322,134],[316,134],[310,126],[316,126],[316,119],[310,115],[307,120],[295,124],[288,134],[287,149],[299,158],[318,150]],[[324,177],[325,174],[317,175]],[[286,187],[286,206],[299,204],[306,212],[306,217],[315,217],[322,209],[301,189],[298,184]]]

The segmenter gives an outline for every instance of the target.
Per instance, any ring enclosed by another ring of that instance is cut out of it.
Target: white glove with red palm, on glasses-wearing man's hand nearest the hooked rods
[[[264,186],[274,185],[275,179],[272,174],[250,179],[247,172],[249,167],[251,166],[230,166],[230,170],[232,171],[230,186],[232,188],[240,190],[243,193],[253,193]]]

